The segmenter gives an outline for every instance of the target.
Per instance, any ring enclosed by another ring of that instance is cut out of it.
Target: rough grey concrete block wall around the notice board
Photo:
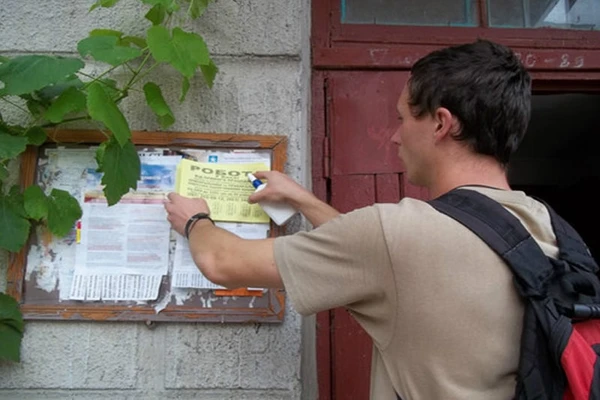
[[[96,27],[140,33],[145,7],[121,0],[88,14],[92,0],[2,0],[0,54],[69,55]],[[169,68],[152,79],[167,88],[173,131],[283,134],[287,172],[310,182],[308,0],[216,0],[193,26],[220,73],[201,78],[175,105],[180,79]],[[90,71],[100,70],[91,65]],[[103,69],[102,69],[103,70]],[[163,89],[164,90],[164,89]],[[158,130],[139,96],[127,99],[134,130]],[[19,119],[4,105],[5,117]],[[13,168],[16,174],[17,168]],[[292,230],[302,229],[297,218]],[[8,255],[0,252],[0,291]],[[27,322],[20,364],[0,365],[0,399],[300,399],[314,398],[312,320],[289,306],[280,325]],[[306,331],[303,335],[301,331]]]

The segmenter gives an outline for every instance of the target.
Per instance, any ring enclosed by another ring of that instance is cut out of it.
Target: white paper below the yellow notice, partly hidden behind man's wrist
[[[217,222],[216,225],[226,229],[243,239],[265,239],[269,233],[269,224],[244,224],[234,222]],[[193,289],[224,289],[209,281],[198,269],[188,246],[188,241],[177,235],[175,244],[175,258],[171,287]]]

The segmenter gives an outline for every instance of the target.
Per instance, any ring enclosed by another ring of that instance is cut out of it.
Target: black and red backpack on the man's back
[[[429,204],[477,234],[514,274],[525,303],[515,399],[600,400],[600,280],[579,234],[544,203],[559,247],[554,260],[481,193],[455,189]]]

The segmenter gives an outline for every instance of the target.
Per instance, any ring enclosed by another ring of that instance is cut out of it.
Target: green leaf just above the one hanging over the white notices
[[[104,123],[114,134],[117,142],[125,146],[131,137],[129,124],[101,83],[94,82],[88,87],[87,107],[90,117]]]

